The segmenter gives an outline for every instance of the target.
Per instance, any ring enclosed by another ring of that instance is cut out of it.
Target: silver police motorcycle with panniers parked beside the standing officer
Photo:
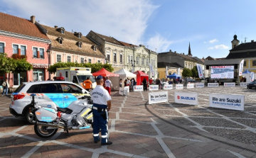
[[[58,128],[68,130],[82,130],[90,128],[92,124],[92,99],[82,96],[78,101],[70,103],[68,108],[59,108],[55,104],[42,105],[35,102],[36,94],[31,94],[31,113],[36,115],[34,130],[36,135],[43,138],[52,137]]]

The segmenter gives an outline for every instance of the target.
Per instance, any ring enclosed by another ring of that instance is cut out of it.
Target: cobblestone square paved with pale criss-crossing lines
[[[159,90],[164,91],[164,90]],[[198,106],[174,103],[174,91],[197,92]],[[150,91],[112,95],[113,145],[92,142],[92,129],[58,130],[42,139],[23,118],[9,114],[0,98],[0,157],[254,157],[255,89],[218,87],[168,90],[169,103],[146,105]],[[245,95],[245,111],[208,107],[208,94]]]

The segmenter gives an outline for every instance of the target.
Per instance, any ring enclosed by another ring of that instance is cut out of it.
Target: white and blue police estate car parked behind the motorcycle
[[[90,96],[89,91],[70,81],[23,82],[11,94],[9,111],[12,115],[25,117],[31,124],[35,123],[34,115],[28,107],[31,103],[31,94],[36,94],[36,103],[55,103],[60,108],[67,108],[70,103],[82,96]]]

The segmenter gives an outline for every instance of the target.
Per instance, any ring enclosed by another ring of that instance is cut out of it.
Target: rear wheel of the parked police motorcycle
[[[45,125],[34,125],[34,130],[36,132],[36,135],[43,138],[52,137],[57,132],[58,128],[51,128],[48,129]]]

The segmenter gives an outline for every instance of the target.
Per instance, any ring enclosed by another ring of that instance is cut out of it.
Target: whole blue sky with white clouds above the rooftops
[[[0,11],[87,35],[90,30],[155,52],[226,57],[237,35],[256,41],[255,0],[0,0]]]

